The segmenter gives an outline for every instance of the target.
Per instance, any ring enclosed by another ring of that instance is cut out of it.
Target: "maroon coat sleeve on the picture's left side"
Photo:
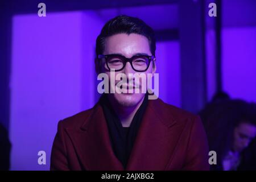
[[[57,134],[53,141],[51,152],[51,171],[68,171],[67,149],[64,142],[64,129],[61,121],[58,123]]]

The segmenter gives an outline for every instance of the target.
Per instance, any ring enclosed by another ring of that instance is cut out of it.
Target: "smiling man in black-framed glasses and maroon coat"
[[[117,16],[96,40],[96,72],[154,75],[155,49],[154,31],[146,23]],[[92,109],[59,122],[51,169],[208,170],[200,118],[159,98],[148,100],[148,93],[130,93],[144,84],[128,80],[119,86],[121,93],[105,93]]]

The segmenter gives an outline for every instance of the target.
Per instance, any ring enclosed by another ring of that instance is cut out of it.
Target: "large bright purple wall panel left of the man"
[[[92,12],[14,16],[11,169],[49,169],[57,122],[93,106],[94,42],[101,27]],[[38,164],[40,150],[46,165]]]

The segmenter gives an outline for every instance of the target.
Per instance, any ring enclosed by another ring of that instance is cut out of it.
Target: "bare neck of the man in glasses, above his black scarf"
[[[137,112],[139,107],[142,105],[144,97],[135,106],[123,106],[123,105],[120,105],[114,99],[110,99],[110,103],[112,104],[113,108],[117,108],[117,110],[115,110],[115,112],[118,115],[118,118],[120,119],[123,127],[130,127],[135,113]]]

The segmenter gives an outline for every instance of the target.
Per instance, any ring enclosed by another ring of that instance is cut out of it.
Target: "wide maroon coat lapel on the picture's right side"
[[[164,109],[162,101],[148,101],[127,170],[164,170],[170,166],[183,126]]]

